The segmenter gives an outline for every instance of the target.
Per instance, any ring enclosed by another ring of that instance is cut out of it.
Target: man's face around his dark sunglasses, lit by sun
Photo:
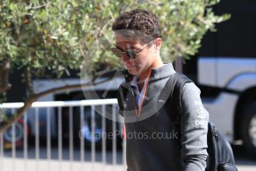
[[[139,40],[131,40],[124,36],[115,36],[116,48],[126,51],[128,49],[138,51],[143,48],[145,44],[142,44]],[[127,55],[122,55],[122,61],[124,62],[125,68],[129,71],[129,74],[140,75],[142,72],[146,71],[150,65],[152,65],[155,59],[153,45],[148,45],[139,51],[135,59],[129,59]]]

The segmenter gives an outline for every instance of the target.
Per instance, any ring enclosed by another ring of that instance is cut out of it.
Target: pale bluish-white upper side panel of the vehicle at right
[[[237,75],[256,72],[256,59],[200,57],[197,67],[199,84],[226,88]]]

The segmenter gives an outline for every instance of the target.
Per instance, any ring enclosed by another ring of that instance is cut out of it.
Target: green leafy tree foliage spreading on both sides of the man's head
[[[159,17],[164,45],[161,57],[196,54],[202,36],[228,15],[215,16],[219,0],[24,0],[0,2],[0,60],[28,68],[32,77],[51,70],[57,77],[86,63],[88,74],[120,66],[109,51],[114,45],[111,25],[122,12],[134,8]]]

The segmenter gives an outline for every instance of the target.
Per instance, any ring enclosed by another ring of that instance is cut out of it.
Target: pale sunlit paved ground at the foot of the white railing
[[[126,167],[123,165],[123,154],[121,150],[118,150],[116,155],[116,164],[113,165],[112,160],[112,150],[106,151],[106,163],[103,164],[102,153],[95,152],[95,162],[92,163],[91,151],[85,150],[84,161],[80,161],[80,150],[74,149],[74,159],[69,160],[69,149],[67,147],[63,148],[63,158],[58,159],[58,149],[53,147],[51,149],[51,160],[47,159],[47,149],[41,147],[39,149],[39,159],[36,160],[34,147],[28,148],[28,159],[25,160],[23,149],[16,149],[16,158],[13,160],[12,151],[5,150],[4,156],[0,157],[0,171],[71,171],[71,170],[116,170],[116,171],[126,171]],[[1,155],[0,155],[1,156]]]

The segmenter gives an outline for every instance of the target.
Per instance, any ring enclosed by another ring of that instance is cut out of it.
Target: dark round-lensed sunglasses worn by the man
[[[138,49],[137,51],[128,49],[126,51],[121,50],[120,48],[111,48],[111,51],[113,54],[115,54],[116,57],[121,58],[123,57],[123,54],[125,54],[129,59],[135,59],[136,55],[143,50],[143,48],[147,47],[150,45],[150,43],[154,42],[155,40],[147,43],[147,45],[144,45],[142,48]]]

